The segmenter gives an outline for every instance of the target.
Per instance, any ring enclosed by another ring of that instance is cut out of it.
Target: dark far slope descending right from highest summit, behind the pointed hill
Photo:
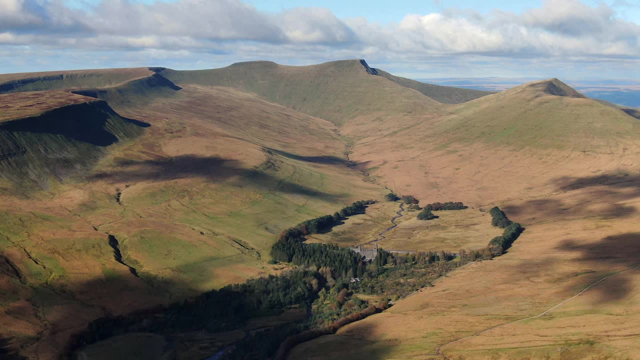
[[[461,102],[467,102],[486,95],[495,94],[490,91],[472,90],[465,88],[454,88],[452,86],[434,85],[429,83],[422,83],[412,79],[402,78],[401,76],[394,76],[388,72],[380,69],[374,69],[376,74],[387,78],[394,83],[412,88],[419,91],[421,94],[434,99],[435,101],[442,102],[443,104],[460,104]]]

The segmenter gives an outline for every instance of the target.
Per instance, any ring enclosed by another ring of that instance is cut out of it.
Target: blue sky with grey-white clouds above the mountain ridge
[[[640,79],[640,0],[0,0],[0,73],[352,58],[408,78]]]

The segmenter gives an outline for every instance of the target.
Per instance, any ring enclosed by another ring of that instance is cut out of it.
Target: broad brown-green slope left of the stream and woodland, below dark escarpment
[[[269,247],[281,229],[384,193],[349,167],[348,140],[326,120],[233,88],[156,80],[85,93],[150,124],[141,136],[106,147],[74,181],[0,195],[0,282],[10,294],[0,336],[30,358],[56,358],[93,318],[277,273]],[[106,106],[85,99],[74,106]],[[116,261],[109,236],[138,277]]]

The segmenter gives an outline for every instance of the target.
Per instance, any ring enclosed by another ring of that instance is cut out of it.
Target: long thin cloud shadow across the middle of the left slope
[[[112,172],[100,172],[92,176],[94,180],[120,183],[166,181],[184,177],[201,177],[209,181],[229,180],[238,187],[305,195],[330,202],[337,200],[331,193],[292,183],[259,170],[243,168],[237,160],[216,156],[184,155],[163,160],[121,160],[116,163],[116,169]]]

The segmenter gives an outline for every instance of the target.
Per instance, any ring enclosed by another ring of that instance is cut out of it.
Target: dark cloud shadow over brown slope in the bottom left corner
[[[65,284],[35,286],[29,310],[20,305],[13,309],[10,307],[8,311],[12,311],[17,318],[33,316],[29,321],[40,322],[46,328],[38,334],[37,342],[30,347],[31,351],[35,349],[38,357],[76,359],[64,355],[71,354],[86,343],[95,342],[97,338],[121,332],[116,331],[115,326],[111,326],[115,322],[103,322],[99,327],[93,327],[96,331],[90,336],[86,331],[93,320],[121,315],[127,318],[127,314],[132,311],[143,311],[141,318],[152,319],[158,313],[160,304],[179,301],[180,297],[176,296],[177,294],[190,296],[199,293],[185,282],[157,279],[144,273],[142,276],[143,279],[140,279],[129,272],[118,272],[106,279],[94,278],[81,283],[67,281]],[[47,313],[46,323],[36,315],[41,311]],[[139,330],[136,323],[132,323],[125,332]],[[161,331],[162,329],[158,329],[158,332]],[[22,341],[26,343],[14,339],[12,348],[27,348],[33,338],[24,338]],[[20,356],[17,350],[10,351],[6,343],[8,340],[0,338],[0,359],[27,359]],[[150,354],[153,354],[152,350]]]

